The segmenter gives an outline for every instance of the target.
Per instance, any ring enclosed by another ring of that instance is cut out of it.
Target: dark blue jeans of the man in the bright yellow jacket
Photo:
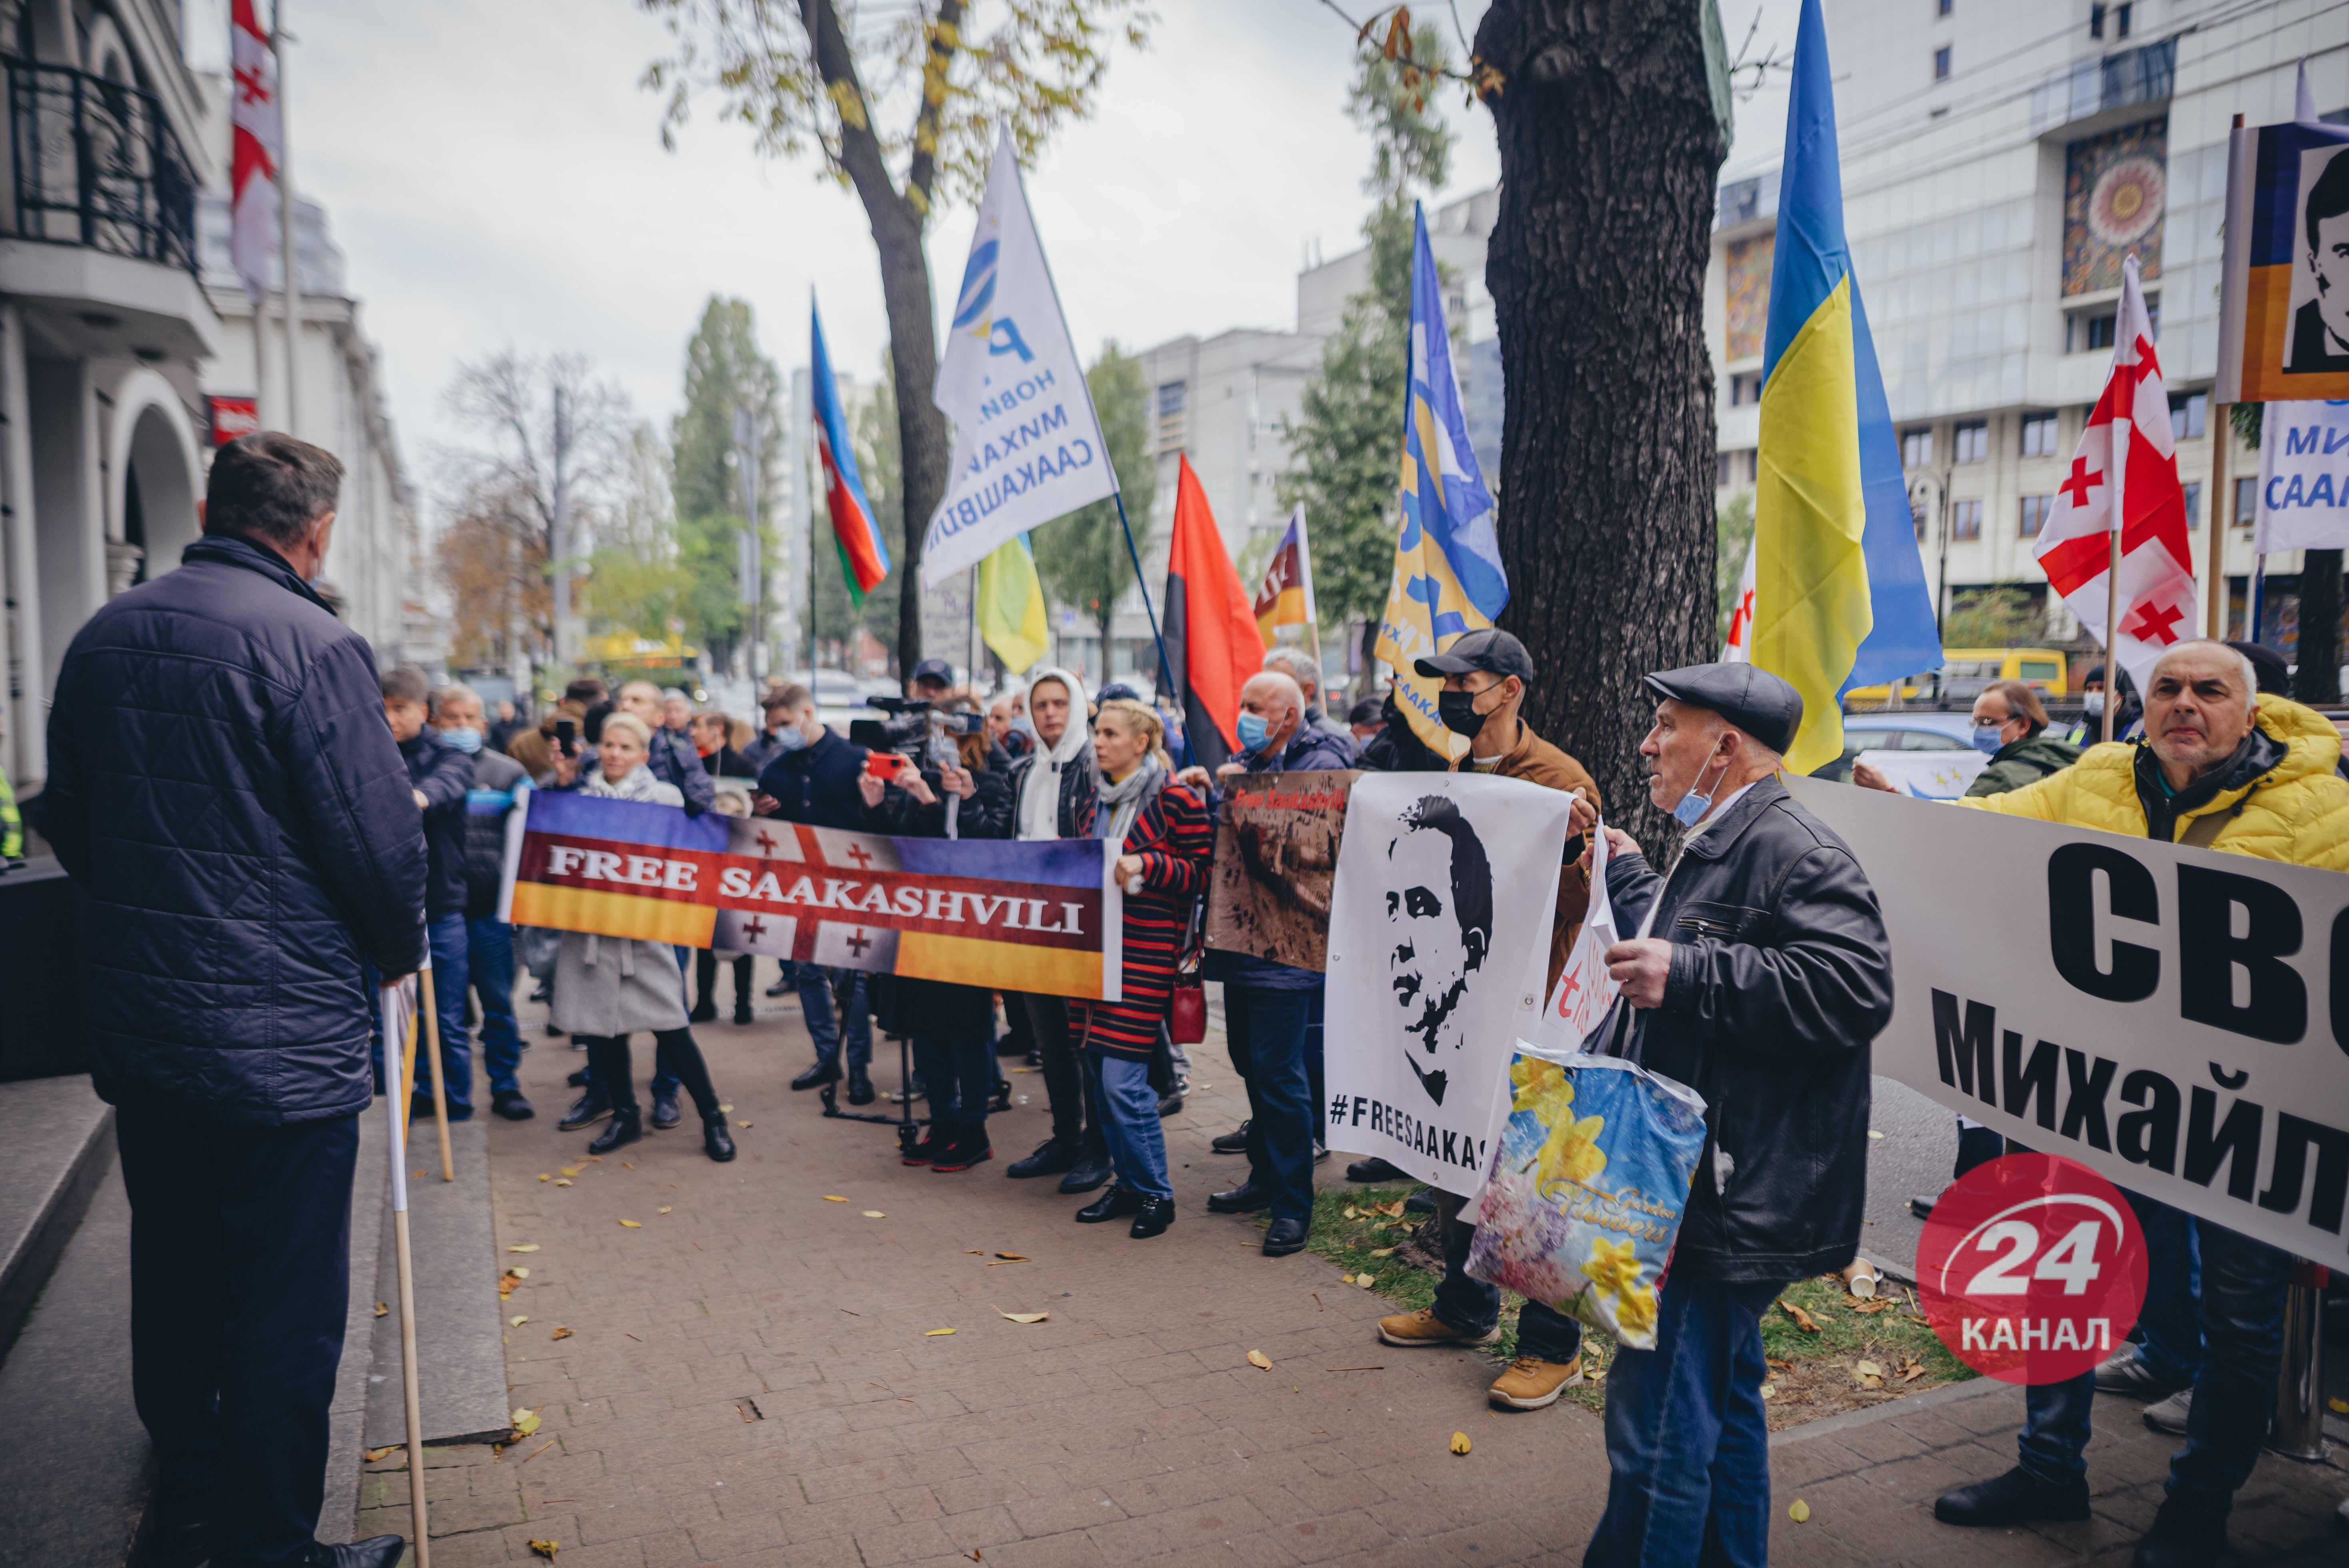
[[[2131,1195],[2131,1202],[2142,1199]],[[2192,1228],[2201,1251],[2203,1361],[2187,1413],[2187,1446],[2170,1460],[2168,1491],[2225,1519],[2234,1491],[2250,1479],[2276,1411],[2283,1286],[2293,1279],[2293,1258],[2222,1225],[2178,1218]],[[2149,1268],[2156,1265],[2149,1261]],[[2027,1415],[2015,1439],[2025,1472],[2039,1481],[2088,1472],[2081,1451],[2088,1446],[2093,1392],[2095,1373],[2025,1392]]]

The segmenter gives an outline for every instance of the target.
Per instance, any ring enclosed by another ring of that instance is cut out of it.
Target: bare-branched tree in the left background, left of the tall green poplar
[[[442,406],[467,432],[446,453],[458,495],[498,495],[531,519],[550,580],[547,653],[578,657],[571,587],[594,549],[592,512],[625,474],[627,394],[585,354],[507,347],[458,361]]]

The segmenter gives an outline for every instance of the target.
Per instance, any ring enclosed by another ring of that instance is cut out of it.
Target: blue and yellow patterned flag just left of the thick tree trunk
[[[1435,714],[1442,681],[1414,662],[1461,631],[1482,631],[1508,606],[1508,573],[1494,535],[1492,491],[1468,446],[1461,385],[1452,373],[1442,279],[1428,249],[1428,216],[1412,209],[1412,350],[1402,408],[1402,533],[1374,653],[1395,667],[1395,704],[1440,756],[1468,742]]]

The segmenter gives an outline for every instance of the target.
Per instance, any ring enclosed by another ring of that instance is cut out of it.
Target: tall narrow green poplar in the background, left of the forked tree
[[[738,408],[749,408],[759,423],[763,554],[785,469],[782,376],[759,352],[749,303],[712,293],[686,343],[686,406],[669,425],[669,488],[677,498],[677,566],[686,580],[679,615],[686,638],[700,643],[719,669],[733,662],[749,631],[740,599],[745,495],[735,467]],[[773,594],[775,584],[768,584],[768,599]]]

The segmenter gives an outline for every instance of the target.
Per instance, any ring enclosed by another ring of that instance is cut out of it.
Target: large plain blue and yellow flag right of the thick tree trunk
[[[1802,692],[1790,772],[1842,756],[1846,690],[1940,667],[1837,160],[1828,28],[1818,0],[1802,0],[1762,357],[1752,631],[1752,662]]]

